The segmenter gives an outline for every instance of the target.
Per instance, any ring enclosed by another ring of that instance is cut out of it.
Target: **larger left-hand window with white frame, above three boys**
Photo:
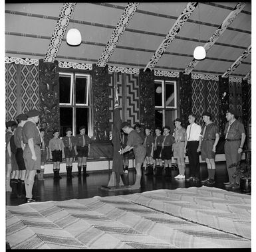
[[[92,137],[90,75],[60,73],[59,85],[61,136],[66,135],[67,127],[71,127],[72,134],[76,135],[79,127],[85,125],[86,133]]]

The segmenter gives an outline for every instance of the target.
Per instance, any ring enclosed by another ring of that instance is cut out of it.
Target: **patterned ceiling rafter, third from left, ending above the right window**
[[[158,49],[156,50],[156,52],[146,65],[146,67],[144,68],[144,72],[146,71],[147,68],[152,70],[154,66],[156,66],[158,60],[160,60],[160,58],[163,56],[164,52],[166,51],[170,43],[174,40],[174,38],[176,38],[177,34],[180,32],[180,29],[182,29],[184,23],[186,23],[186,21],[190,18],[190,15],[192,15],[193,11],[195,10],[195,7],[197,7],[197,4],[197,2],[188,3],[188,5],[185,7],[180,17],[178,17],[178,19],[176,20],[168,34],[166,34],[166,37],[164,38],[160,46],[158,46]]]

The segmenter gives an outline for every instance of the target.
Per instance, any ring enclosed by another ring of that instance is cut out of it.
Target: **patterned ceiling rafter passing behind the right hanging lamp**
[[[223,32],[227,29],[227,27],[233,23],[233,21],[235,20],[237,15],[239,15],[239,13],[242,11],[242,9],[244,7],[245,7],[245,3],[243,3],[243,2],[237,3],[237,5],[233,9],[233,11],[231,11],[231,13],[229,13],[229,15],[227,15],[227,17],[225,18],[223,23],[211,35],[211,37],[209,38],[207,43],[203,45],[206,52],[208,52],[210,50],[210,48],[213,46],[213,44],[215,44],[215,42],[219,39],[219,37],[223,34]],[[188,64],[188,66],[185,68],[184,74],[190,74],[198,62],[199,62],[199,60],[193,59],[192,62],[190,62],[190,64]]]

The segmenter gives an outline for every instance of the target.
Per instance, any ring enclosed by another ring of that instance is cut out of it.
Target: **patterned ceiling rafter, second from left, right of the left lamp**
[[[132,19],[139,4],[140,3],[128,3],[97,62],[97,66],[106,66],[106,63],[116,48],[116,44],[118,44],[118,41],[120,40],[126,27],[129,25],[130,20]]]

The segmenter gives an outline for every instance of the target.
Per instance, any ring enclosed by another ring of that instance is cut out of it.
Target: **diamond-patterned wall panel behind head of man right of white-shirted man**
[[[213,123],[219,127],[219,83],[205,80],[205,110],[211,113]]]

